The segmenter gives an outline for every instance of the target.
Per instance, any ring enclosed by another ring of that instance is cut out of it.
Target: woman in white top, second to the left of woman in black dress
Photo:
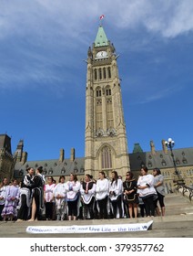
[[[99,172],[99,179],[96,181],[96,200],[99,208],[99,219],[107,219],[108,191],[109,181],[104,172]]]

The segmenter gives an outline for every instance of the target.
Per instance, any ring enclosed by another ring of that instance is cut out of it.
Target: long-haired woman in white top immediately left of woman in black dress
[[[119,219],[123,218],[122,208],[123,182],[118,178],[117,171],[112,172],[112,181],[109,187],[109,198],[113,206],[113,217],[117,218],[117,208]]]

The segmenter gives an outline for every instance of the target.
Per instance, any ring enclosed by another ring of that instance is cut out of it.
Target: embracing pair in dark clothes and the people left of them
[[[42,219],[44,208],[45,176],[43,167],[27,168],[20,185],[16,179],[8,183],[5,177],[0,183],[0,217],[1,220],[35,220]],[[31,217],[31,219],[29,219]]]

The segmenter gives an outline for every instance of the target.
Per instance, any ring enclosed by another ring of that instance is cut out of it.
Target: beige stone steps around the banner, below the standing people
[[[0,222],[2,238],[192,238],[193,203],[180,193],[165,197],[166,216],[137,219],[93,219],[76,221],[33,221]],[[153,220],[152,229],[135,232],[83,233],[83,234],[29,234],[28,226],[72,226],[72,225],[112,225],[128,223],[147,223]]]

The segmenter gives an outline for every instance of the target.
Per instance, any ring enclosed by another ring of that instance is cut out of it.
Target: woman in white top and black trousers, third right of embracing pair
[[[66,201],[68,207],[68,219],[72,217],[76,220],[79,209],[80,182],[75,174],[70,175],[69,181],[66,182]]]

